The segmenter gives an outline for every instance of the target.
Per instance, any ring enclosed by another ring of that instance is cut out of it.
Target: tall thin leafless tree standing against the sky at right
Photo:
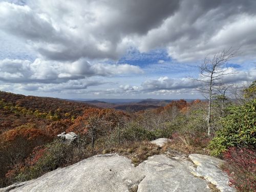
[[[223,50],[220,53],[217,53],[209,59],[207,56],[204,58],[200,69],[200,77],[197,79],[192,78],[193,80],[199,81],[202,84],[202,87],[199,89],[202,94],[208,100],[208,114],[207,114],[207,126],[208,136],[211,134],[211,106],[212,106],[212,97],[215,94],[216,88],[221,85],[221,77],[223,75],[233,74],[229,72],[226,64],[228,60],[237,55],[238,50],[233,50],[232,48],[228,50]]]

